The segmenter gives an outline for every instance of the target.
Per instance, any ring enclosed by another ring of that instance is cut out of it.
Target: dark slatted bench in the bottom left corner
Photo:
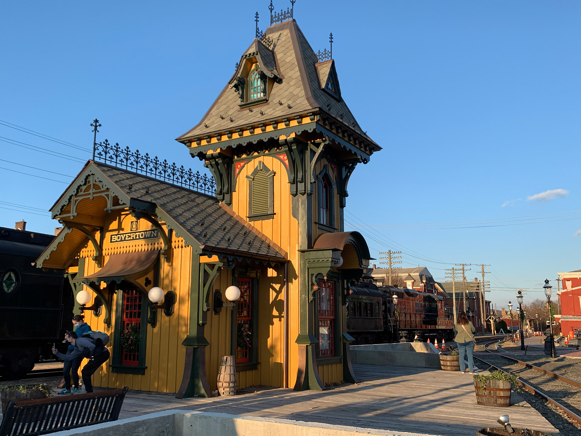
[[[128,387],[8,403],[0,436],[35,436],[116,421]]]

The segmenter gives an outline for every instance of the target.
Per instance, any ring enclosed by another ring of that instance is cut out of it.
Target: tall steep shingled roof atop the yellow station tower
[[[221,141],[223,134],[231,138],[232,134],[244,128],[250,128],[253,134],[254,127],[263,128],[275,121],[286,121],[285,125],[288,126],[290,119],[310,116],[310,120],[314,121],[313,115],[320,115],[331,124],[342,126],[342,131],[349,132],[350,136],[361,138],[355,144],[365,143],[366,150],[368,148],[371,151],[368,154],[381,149],[357,123],[340,91],[333,95],[324,90],[329,74],[332,74],[336,87],[339,88],[335,61],[319,62],[295,20],[268,27],[261,41],[254,40],[250,44],[242,55],[234,76],[202,120],[178,137],[177,141],[186,145],[195,141],[199,146],[200,140],[205,139],[203,145],[208,148],[206,144],[210,144],[210,138],[219,136],[218,141]],[[238,93],[231,88],[236,78],[242,74],[245,59],[253,56],[256,57],[260,69],[275,78],[275,83],[268,95],[268,102],[249,110],[240,108]],[[299,124],[302,124],[302,120]],[[313,127],[309,131],[312,130]],[[262,131],[264,132],[264,128]],[[239,136],[242,137],[242,134]],[[216,144],[212,145],[216,148]]]

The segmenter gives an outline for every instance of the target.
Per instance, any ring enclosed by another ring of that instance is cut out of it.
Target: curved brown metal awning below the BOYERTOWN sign
[[[86,277],[77,277],[74,280],[82,281],[83,283],[91,281],[96,283],[101,281],[121,283],[121,280],[126,277],[135,278],[141,276],[152,266],[157,256],[159,256],[159,250],[111,255],[105,266],[99,271]]]

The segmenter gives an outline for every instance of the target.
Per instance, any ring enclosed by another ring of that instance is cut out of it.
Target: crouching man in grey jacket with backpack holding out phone
[[[92,392],[93,385],[91,384],[91,376],[103,363],[109,360],[109,350],[105,346],[105,344],[109,342],[108,335],[101,332],[87,332],[79,338],[74,331],[67,331],[67,333],[64,334],[64,339],[66,339],[69,344],[74,345],[73,352],[70,354],[63,354],[59,353],[53,347],[52,353],[65,361],[77,358],[88,358],[89,362],[85,364],[81,370],[81,376],[83,376],[83,386],[85,387],[85,390],[87,392]],[[105,341],[103,341],[103,339],[105,339]]]

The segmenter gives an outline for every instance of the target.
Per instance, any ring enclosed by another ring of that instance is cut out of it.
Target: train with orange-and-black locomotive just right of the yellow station
[[[355,339],[353,345],[413,341],[416,336],[432,342],[453,338],[453,321],[440,295],[367,281],[350,286],[349,292],[347,332]]]

